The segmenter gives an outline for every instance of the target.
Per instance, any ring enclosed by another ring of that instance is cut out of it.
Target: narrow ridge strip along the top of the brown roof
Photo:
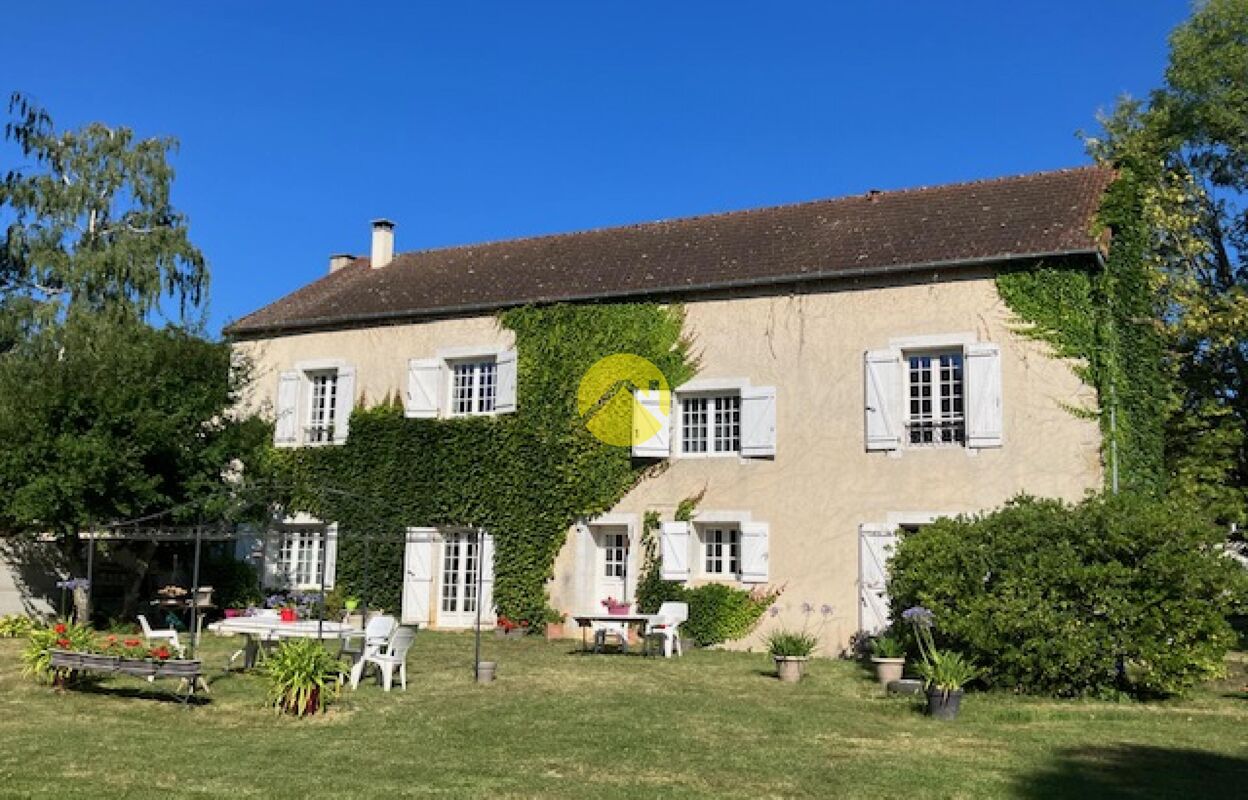
[[[442,246],[442,247],[424,247],[422,250],[406,250],[403,252],[394,253],[394,258],[398,260],[398,258],[402,258],[404,256],[413,256],[413,257],[414,256],[423,256],[423,255],[427,255],[427,253],[444,253],[444,252],[453,252],[453,251],[457,251],[457,250],[473,250],[473,248],[477,248],[477,247],[490,247],[490,246],[494,246],[494,245],[509,245],[509,243],[513,243],[513,242],[539,242],[539,241],[548,241],[548,240],[559,240],[559,238],[567,238],[567,237],[572,237],[572,236],[585,236],[585,235],[589,235],[589,233],[607,233],[607,232],[615,232],[615,231],[635,231],[635,230],[639,230],[639,228],[654,227],[654,226],[660,226],[660,225],[675,225],[675,223],[684,223],[684,222],[703,222],[703,221],[706,221],[706,220],[721,220],[721,218],[728,218],[728,217],[745,217],[745,216],[750,216],[750,215],[755,215],[755,213],[766,213],[766,212],[770,212],[770,211],[778,211],[780,208],[802,208],[802,207],[807,207],[807,206],[817,206],[817,205],[821,205],[821,203],[850,202],[850,201],[854,201],[854,200],[869,201],[869,200],[872,200],[872,198],[877,201],[880,197],[886,197],[886,196],[917,195],[917,193],[921,193],[921,192],[930,192],[930,191],[936,191],[936,190],[965,188],[967,186],[988,186],[988,185],[992,185],[992,183],[1006,183],[1006,182],[1010,182],[1010,181],[1020,181],[1020,180],[1025,180],[1025,178],[1048,177],[1048,176],[1055,176],[1055,175],[1071,175],[1071,173],[1075,173],[1075,172],[1098,172],[1098,171],[1109,171],[1109,167],[1103,167],[1103,166],[1097,165],[1097,163],[1086,163],[1083,166],[1077,166],[1077,167],[1058,167],[1058,168],[1053,168],[1053,170],[1041,170],[1040,172],[1020,172],[1017,175],[1003,175],[1003,176],[996,176],[996,177],[972,178],[972,180],[967,180],[967,181],[955,181],[952,183],[931,183],[931,185],[926,185],[925,183],[922,186],[904,186],[901,188],[867,190],[865,192],[860,192],[860,193],[855,193],[855,195],[840,195],[837,197],[817,197],[817,198],[814,198],[814,200],[799,200],[799,201],[795,201],[795,202],[778,203],[778,205],[774,205],[774,206],[755,206],[755,207],[751,207],[751,208],[733,208],[730,211],[709,211],[709,212],[704,212],[704,213],[695,213],[695,215],[689,215],[689,216],[683,216],[683,217],[666,217],[666,218],[661,218],[661,220],[644,220],[644,221],[640,221],[640,222],[625,222],[623,225],[603,225],[603,226],[599,226],[599,227],[579,228],[579,230],[575,230],[575,231],[557,231],[554,233],[534,233],[534,235],[530,235],[530,236],[514,236],[514,237],[510,237],[510,238],[494,238],[494,240],[487,240],[487,241],[479,241],[479,242],[464,242],[462,245],[446,245],[446,246]],[[359,260],[367,261],[368,256],[357,256],[356,257],[356,262],[358,262]],[[352,262],[348,266],[354,266],[356,262]]]

